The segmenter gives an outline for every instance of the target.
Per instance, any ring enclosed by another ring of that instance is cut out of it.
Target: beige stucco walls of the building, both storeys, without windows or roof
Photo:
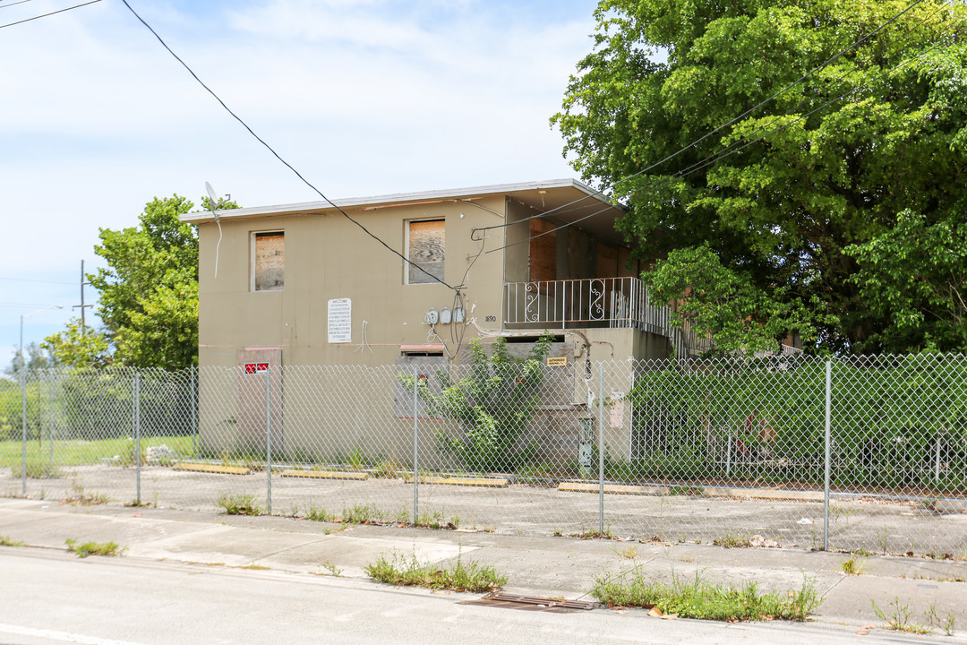
[[[234,367],[243,357],[250,357],[251,352],[268,349],[275,352],[273,356],[280,356],[280,360],[274,360],[286,369],[285,383],[278,384],[285,414],[280,423],[273,420],[273,434],[278,449],[293,454],[325,456],[321,454],[322,446],[315,442],[329,423],[340,428],[338,439],[327,447],[330,452],[349,453],[379,445],[380,437],[406,436],[405,415],[397,409],[398,393],[394,395],[391,387],[398,380],[399,369],[394,366],[401,351],[406,347],[443,344],[448,352],[457,354],[454,363],[463,362],[466,343],[473,337],[508,333],[503,329],[505,281],[531,279],[531,228],[522,220],[538,211],[503,194],[490,194],[473,202],[438,199],[432,203],[388,203],[346,210],[404,255],[408,221],[445,220],[444,279],[453,285],[465,285],[466,316],[474,324],[464,327],[463,350],[458,354],[451,339],[454,323],[437,324],[438,337],[427,337],[430,327],[424,321],[426,310],[454,308],[453,291],[436,283],[407,284],[405,262],[335,211],[225,218],[221,222],[220,245],[218,225],[211,221],[200,223],[199,363]],[[474,228],[505,221],[512,225],[485,231],[483,242],[471,238]],[[513,224],[514,221],[520,223]],[[253,233],[269,231],[284,233],[283,288],[256,292],[251,287]],[[513,246],[503,252],[482,252],[505,245]],[[636,269],[625,266],[626,249],[602,244],[596,236],[575,227],[556,232],[554,249],[557,279],[596,277],[599,263],[607,276],[636,273]],[[352,303],[351,342],[328,341],[329,301],[337,298],[348,298]],[[536,336],[542,331],[538,325],[530,332],[518,330],[515,334]],[[561,461],[576,455],[580,420],[594,416],[589,410],[597,390],[592,393],[590,381],[574,376],[574,363],[663,358],[667,356],[667,341],[632,329],[550,331],[565,337],[555,355],[568,358],[568,369],[562,374],[566,371],[571,376],[562,375],[548,382],[548,391],[542,397],[549,402],[535,415],[526,441],[538,441],[552,448],[542,458]],[[529,350],[526,343],[515,346],[524,353]],[[347,371],[330,366],[346,366],[343,369]],[[297,370],[290,371],[290,367]],[[369,367],[377,371],[354,371]],[[359,387],[359,379],[371,379],[374,388],[366,410],[357,410],[345,419],[334,416],[341,401],[348,400],[350,391]],[[627,379],[611,375],[608,387],[613,390],[627,380],[625,390],[629,391],[632,379],[630,371]],[[264,384],[264,379],[258,382]],[[213,449],[238,449],[252,437],[239,428],[225,430],[221,421],[234,418],[233,415],[245,416],[244,384],[238,385],[241,389],[237,395],[222,392],[214,381],[210,385],[211,394],[202,396],[200,406],[202,427],[208,428],[203,439]],[[343,393],[342,388],[349,391]],[[275,399],[275,386],[273,391]],[[220,400],[225,396],[227,400]],[[329,417],[333,417],[331,422],[323,421]],[[625,458],[630,453],[630,432],[630,414],[622,417],[620,423],[606,427],[608,454]],[[406,450],[403,442],[390,453],[402,458]]]

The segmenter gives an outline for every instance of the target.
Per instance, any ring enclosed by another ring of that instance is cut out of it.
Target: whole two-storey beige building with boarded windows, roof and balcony
[[[634,377],[627,359],[689,350],[667,308],[649,303],[642,266],[615,231],[624,210],[579,182],[336,204],[344,214],[309,202],[182,216],[200,238],[199,411],[203,443],[215,452],[265,445],[271,399],[272,441],[287,454],[333,460],[379,446],[372,452],[402,456],[405,441],[386,442],[404,436],[400,420],[422,413],[394,385],[397,374],[465,363],[477,337],[507,337],[524,354],[546,330],[560,371],[544,381],[528,441],[546,447],[546,458],[572,458],[599,389],[590,384],[594,363],[620,362],[607,384],[620,400]],[[214,369],[236,366],[272,369],[269,378]],[[284,384],[275,366],[284,366]],[[376,386],[372,371],[331,366],[390,368]],[[609,451],[628,457],[631,414],[609,418]]]

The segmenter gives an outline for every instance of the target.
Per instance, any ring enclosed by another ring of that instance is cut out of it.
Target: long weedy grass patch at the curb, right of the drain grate
[[[760,593],[756,583],[736,589],[673,576],[672,582],[647,580],[643,574],[595,579],[591,595],[608,606],[656,608],[665,615],[726,622],[805,621],[822,599],[813,580],[806,578],[799,591]]]

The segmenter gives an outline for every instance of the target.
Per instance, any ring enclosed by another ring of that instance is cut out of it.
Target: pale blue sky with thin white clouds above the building
[[[0,24],[79,1],[0,0]],[[129,2],[331,197],[574,176],[548,118],[593,0]],[[0,60],[2,365],[21,314],[66,306],[28,317],[26,342],[72,315],[99,227],[154,196],[197,202],[209,181],[243,206],[316,198],[120,0],[0,29]]]

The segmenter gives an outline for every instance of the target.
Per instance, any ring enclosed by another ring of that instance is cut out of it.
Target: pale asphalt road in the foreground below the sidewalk
[[[465,604],[471,594],[307,573],[0,548],[0,643],[855,643],[856,628]],[[963,642],[877,630],[865,642]]]

